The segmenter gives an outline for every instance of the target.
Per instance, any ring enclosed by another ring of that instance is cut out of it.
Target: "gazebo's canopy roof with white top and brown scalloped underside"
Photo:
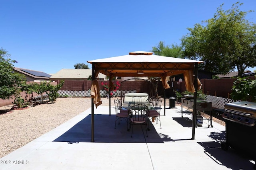
[[[194,70],[194,61],[174,57],[153,55],[152,52],[134,51],[129,55],[87,61],[95,64],[95,73],[107,76],[172,76]]]

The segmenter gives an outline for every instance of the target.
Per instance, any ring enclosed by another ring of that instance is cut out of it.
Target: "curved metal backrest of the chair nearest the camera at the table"
[[[145,121],[149,113],[148,107],[144,104],[136,104],[131,106],[132,108],[132,117],[135,121]]]

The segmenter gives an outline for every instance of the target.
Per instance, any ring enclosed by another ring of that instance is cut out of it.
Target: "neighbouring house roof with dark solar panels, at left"
[[[49,80],[49,77],[51,76],[50,74],[42,71],[29,70],[25,68],[14,67],[13,70],[18,73],[24,74],[25,76],[29,76],[34,80]]]

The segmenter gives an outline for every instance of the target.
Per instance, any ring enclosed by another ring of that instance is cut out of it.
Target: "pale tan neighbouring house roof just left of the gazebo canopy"
[[[91,69],[61,69],[56,74],[52,75],[50,79],[87,79],[92,75]],[[99,73],[98,77],[104,79],[105,75]]]

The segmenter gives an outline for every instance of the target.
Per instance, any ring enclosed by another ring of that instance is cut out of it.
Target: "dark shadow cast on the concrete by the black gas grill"
[[[214,137],[222,136],[219,134],[213,135]],[[217,141],[212,142],[198,142],[199,145],[204,147],[204,153],[214,160],[217,164],[226,166],[232,170],[252,170],[254,163],[250,162],[250,158],[242,155],[234,149],[224,151]],[[210,169],[211,167],[209,167]]]

